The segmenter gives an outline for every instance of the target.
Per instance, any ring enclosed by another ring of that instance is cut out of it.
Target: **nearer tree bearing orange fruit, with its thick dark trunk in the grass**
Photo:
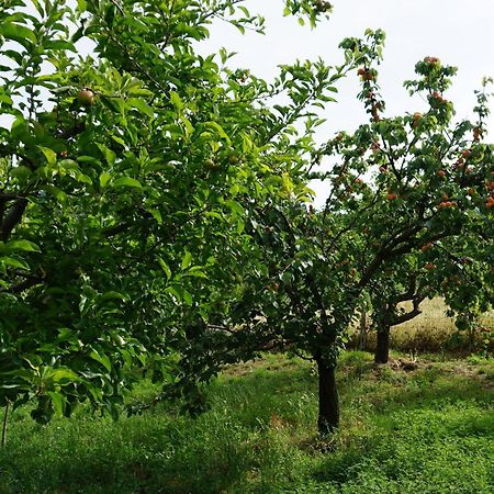
[[[222,324],[195,335],[206,356],[201,364],[213,369],[267,344],[315,360],[323,435],[339,424],[337,357],[366,291],[378,290],[398,265],[403,278],[390,296],[413,292],[418,305],[422,288],[437,277],[423,246],[454,245],[479,225],[492,225],[494,148],[482,142],[482,119],[453,121],[446,92],[456,69],[435,57],[419,61],[417,79],[405,85],[424,97],[427,110],[386,117],[375,67],[383,41],[382,32],[369,31],[366,40],[341,44],[360,61],[359,99],[370,121],[311,150],[303,164],[307,180],[327,184],[325,206],[314,211],[289,197],[251,209],[246,233],[256,242],[243,260],[243,287]],[[478,110],[485,112],[485,102]],[[317,171],[329,157],[330,170]],[[485,235],[492,245],[492,226]]]

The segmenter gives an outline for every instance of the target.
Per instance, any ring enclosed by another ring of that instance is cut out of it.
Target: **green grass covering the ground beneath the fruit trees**
[[[330,444],[315,436],[314,369],[283,356],[226,369],[197,419],[160,405],[116,423],[81,409],[38,426],[16,411],[0,493],[494,492],[492,360],[429,356],[406,373],[348,352],[338,377]],[[143,383],[135,395],[153,393]]]

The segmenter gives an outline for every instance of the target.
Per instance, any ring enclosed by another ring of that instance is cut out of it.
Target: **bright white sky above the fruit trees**
[[[270,79],[277,65],[299,59],[317,59],[328,65],[341,61],[338,44],[348,36],[362,37],[367,27],[386,33],[384,60],[380,66],[380,85],[386,101],[385,115],[414,113],[427,108],[418,98],[409,98],[403,81],[414,78],[415,64],[425,56],[437,56],[442,63],[459,68],[447,93],[457,119],[472,117],[473,91],[480,89],[484,76],[494,77],[494,2],[492,0],[332,0],[335,9],[329,21],[315,30],[300,26],[296,19],[282,16],[281,0],[248,0],[250,12],[266,18],[267,34],[242,35],[226,23],[211,27],[211,38],[201,52],[212,53],[225,46],[238,52],[231,65],[249,68]],[[337,103],[329,103],[323,115],[327,123],[319,127],[322,142],[341,130],[351,131],[368,121],[357,101],[359,81],[356,74],[338,82]],[[494,91],[494,86],[492,87]],[[494,109],[493,109],[494,110]],[[494,135],[494,117],[490,122]],[[317,184],[316,205],[325,193]]]

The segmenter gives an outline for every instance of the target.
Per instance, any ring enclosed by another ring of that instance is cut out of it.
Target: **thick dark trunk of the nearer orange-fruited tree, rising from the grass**
[[[322,436],[336,431],[339,426],[338,391],[336,388],[336,367],[327,364],[322,357],[316,358],[319,374],[319,415],[317,428]]]

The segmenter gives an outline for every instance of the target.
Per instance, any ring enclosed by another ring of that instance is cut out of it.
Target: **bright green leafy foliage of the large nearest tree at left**
[[[232,71],[226,49],[194,52],[215,19],[262,30],[235,0],[0,8],[0,405],[35,398],[47,422],[89,400],[116,416],[136,367],[172,381],[237,290],[249,211],[310,198],[311,108],[344,67],[297,61],[271,83]],[[98,58],[78,56],[81,38]]]

